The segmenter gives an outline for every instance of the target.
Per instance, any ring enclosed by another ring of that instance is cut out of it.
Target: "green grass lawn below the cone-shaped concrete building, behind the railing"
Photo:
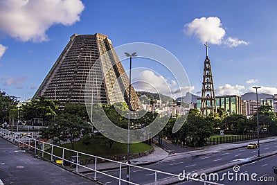
[[[66,143],[62,145],[64,148],[72,149],[71,143]],[[146,150],[150,150],[152,146],[149,146],[145,143],[134,143],[131,144],[130,150],[131,154],[144,152]],[[77,141],[74,144],[74,150],[78,152],[84,152],[90,155],[96,155],[99,157],[112,157],[112,156],[120,156],[127,155],[127,144],[126,143],[113,143],[111,148],[109,148],[109,143],[103,142],[101,138],[93,138],[91,139],[91,143],[89,145],[85,145],[81,141]],[[48,149],[47,152],[51,152],[51,149]],[[61,148],[53,148],[53,154],[59,157],[62,157],[62,149]],[[64,157],[70,157],[71,155],[76,155],[74,152],[69,152],[64,150]],[[49,157],[49,156],[47,156]],[[87,158],[87,156],[81,157]]]

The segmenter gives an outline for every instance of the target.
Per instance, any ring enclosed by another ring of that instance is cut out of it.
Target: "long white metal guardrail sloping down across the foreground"
[[[148,184],[161,184],[161,178],[159,179],[158,175],[161,176],[168,176],[168,177],[163,177],[163,179],[170,179],[170,178],[178,178],[179,175],[176,174],[172,174],[172,173],[166,173],[160,170],[153,170],[150,168],[144,168],[142,166],[134,166],[132,164],[125,164],[123,162],[120,161],[114,161],[111,159],[105,159],[103,157],[98,157],[95,155],[89,155],[83,152],[78,152],[75,150],[71,150],[68,148],[63,148],[61,146],[55,146],[51,143],[46,143],[44,141],[39,141],[37,139],[33,139],[27,136],[23,136],[21,135],[21,133],[17,133],[17,132],[11,132],[9,130],[6,129],[2,129],[0,128],[0,136],[3,137],[6,140],[9,140],[10,142],[14,143],[15,145],[25,148],[26,150],[30,150],[32,152],[35,153],[35,155],[39,155],[41,157],[44,158],[48,158],[51,159],[51,161],[55,161],[57,160],[58,164],[65,166],[66,163],[70,164],[70,166],[73,168],[75,168],[75,172],[78,173],[78,171],[80,169],[84,170],[89,170],[92,171],[94,173],[94,177],[93,179],[95,181],[98,181],[97,177],[99,174],[101,175],[105,175],[106,177],[111,177],[113,179],[118,180],[118,184],[121,184],[122,182],[126,182],[127,184],[139,184],[139,182],[131,182],[131,181],[127,181],[126,179],[123,178],[123,168],[139,168],[139,170],[148,170],[150,172],[152,172],[152,175],[154,175],[154,178],[152,179],[151,182],[147,182]],[[60,152],[54,152],[54,150],[60,150]],[[57,153],[60,153],[57,154]],[[72,159],[68,159],[66,158],[66,155],[70,155],[75,157],[75,160]],[[84,158],[84,159],[93,159],[93,164],[91,164],[89,166],[85,166],[84,164],[82,164],[82,162],[80,161],[80,157]],[[100,170],[99,164],[100,161],[108,161],[110,163],[115,164],[116,168],[118,168],[118,177],[114,176],[114,175],[110,175],[108,173],[105,173],[105,171]],[[129,170],[130,171],[130,170]],[[192,180],[195,182],[202,182],[205,185],[206,184],[215,184],[215,185],[220,185],[216,182],[208,182],[202,179],[194,179],[191,177],[183,177],[186,181],[188,180]]]

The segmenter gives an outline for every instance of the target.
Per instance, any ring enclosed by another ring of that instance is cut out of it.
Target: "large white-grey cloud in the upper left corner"
[[[47,40],[48,28],[74,24],[82,10],[80,0],[0,1],[0,31],[24,42],[42,42]]]

